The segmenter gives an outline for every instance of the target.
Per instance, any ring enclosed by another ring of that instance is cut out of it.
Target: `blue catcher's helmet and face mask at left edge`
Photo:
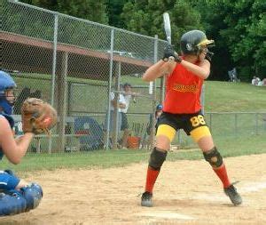
[[[16,100],[14,90],[17,84],[12,77],[0,70],[0,108],[4,113],[11,115],[14,102]],[[10,94],[10,95],[9,95]]]

